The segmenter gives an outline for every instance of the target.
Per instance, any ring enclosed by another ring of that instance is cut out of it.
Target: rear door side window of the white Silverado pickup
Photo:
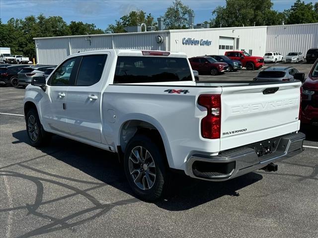
[[[100,80],[107,55],[84,56],[79,66],[77,86],[91,86]]]

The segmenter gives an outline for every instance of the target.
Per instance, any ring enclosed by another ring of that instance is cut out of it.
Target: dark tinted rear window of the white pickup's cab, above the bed
[[[114,83],[192,81],[186,58],[118,57]]]

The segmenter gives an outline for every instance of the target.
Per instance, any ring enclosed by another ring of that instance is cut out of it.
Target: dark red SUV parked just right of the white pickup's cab
[[[218,62],[212,57],[202,56],[193,57],[189,59],[193,70],[197,70],[199,73],[211,73],[211,75],[217,75],[229,71],[229,64]]]

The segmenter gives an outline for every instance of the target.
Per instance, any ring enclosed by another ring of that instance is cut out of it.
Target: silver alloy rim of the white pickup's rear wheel
[[[129,172],[134,183],[142,190],[151,189],[156,181],[156,165],[150,152],[142,147],[134,147],[129,155]]]

